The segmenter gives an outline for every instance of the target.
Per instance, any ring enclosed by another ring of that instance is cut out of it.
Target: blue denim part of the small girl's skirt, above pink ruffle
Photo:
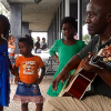
[[[22,81],[19,81],[16,94],[22,97],[37,97],[41,95],[41,92],[38,83],[28,84]]]

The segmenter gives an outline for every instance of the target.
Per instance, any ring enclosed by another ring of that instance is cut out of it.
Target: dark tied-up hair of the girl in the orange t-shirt
[[[26,37],[19,38],[19,42],[26,42],[28,46],[33,48],[33,39],[31,36],[26,34]]]

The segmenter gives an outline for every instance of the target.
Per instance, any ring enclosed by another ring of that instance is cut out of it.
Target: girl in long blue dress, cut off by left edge
[[[3,107],[9,105],[9,69],[12,70],[9,57],[8,57],[8,42],[10,23],[7,17],[0,14],[0,111],[3,111]],[[3,36],[3,38],[1,38]]]

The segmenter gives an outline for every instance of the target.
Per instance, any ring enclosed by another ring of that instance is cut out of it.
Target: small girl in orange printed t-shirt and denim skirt
[[[21,101],[22,111],[28,111],[28,102],[34,102],[37,104],[36,111],[42,111],[44,100],[38,84],[42,81],[46,67],[40,57],[32,56],[32,48],[33,40],[31,37],[26,36],[26,38],[19,39],[19,49],[22,56],[16,60],[16,79],[19,82],[13,100]],[[39,68],[41,68],[40,77],[38,74]]]

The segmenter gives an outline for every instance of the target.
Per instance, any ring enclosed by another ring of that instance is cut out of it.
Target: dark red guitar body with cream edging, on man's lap
[[[75,71],[75,73],[73,73],[73,75],[68,80],[59,97],[74,97],[77,99],[82,99],[95,75],[95,73],[87,72],[83,69]]]

